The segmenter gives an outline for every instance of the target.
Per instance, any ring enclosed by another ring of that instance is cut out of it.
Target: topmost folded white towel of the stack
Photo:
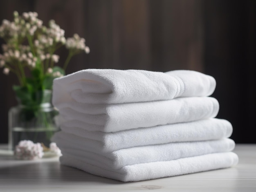
[[[216,81],[196,71],[86,69],[54,79],[53,104],[117,104],[209,96]]]

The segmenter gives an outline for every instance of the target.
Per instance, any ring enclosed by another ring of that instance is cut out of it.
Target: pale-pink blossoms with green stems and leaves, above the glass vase
[[[40,104],[36,94],[52,89],[54,78],[65,75],[70,59],[89,53],[90,49],[77,34],[66,39],[65,31],[54,20],[44,26],[36,12],[19,15],[14,11],[13,16],[13,21],[3,20],[0,26],[0,38],[6,42],[2,45],[0,67],[4,74],[13,72],[18,77],[19,85],[13,86],[13,90],[22,105]],[[63,68],[55,66],[59,60],[55,53],[61,46],[69,51]]]

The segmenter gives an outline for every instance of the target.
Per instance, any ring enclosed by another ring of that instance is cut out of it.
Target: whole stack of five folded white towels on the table
[[[238,163],[229,121],[216,119],[216,81],[196,71],[87,69],[54,80],[63,165],[119,181]]]

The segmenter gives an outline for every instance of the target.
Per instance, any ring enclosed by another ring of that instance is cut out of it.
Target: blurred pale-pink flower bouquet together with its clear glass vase
[[[18,85],[13,90],[19,105],[9,110],[10,148],[20,140],[31,140],[48,146],[51,136],[58,130],[58,112],[51,104],[52,84],[65,75],[70,59],[79,53],[89,53],[85,39],[74,34],[65,38],[65,31],[54,20],[48,26],[38,19],[36,12],[13,12],[13,21],[3,20],[0,38],[5,41],[0,54],[3,73],[14,73]],[[63,67],[56,66],[61,47],[68,50]],[[28,131],[29,130],[29,131]]]

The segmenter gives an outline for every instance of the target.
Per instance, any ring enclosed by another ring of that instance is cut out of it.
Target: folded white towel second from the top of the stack
[[[213,97],[182,97],[111,105],[62,102],[56,107],[64,117],[61,124],[90,131],[116,132],[216,117],[219,103]]]

